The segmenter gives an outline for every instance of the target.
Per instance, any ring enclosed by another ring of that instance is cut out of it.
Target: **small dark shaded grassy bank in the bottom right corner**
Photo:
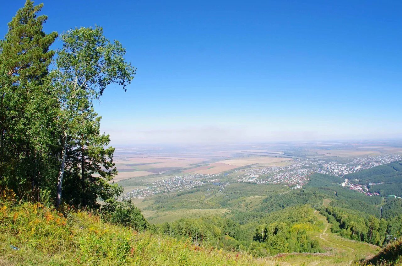
[[[362,260],[360,265],[402,265],[402,239],[398,239],[388,244],[375,256]]]

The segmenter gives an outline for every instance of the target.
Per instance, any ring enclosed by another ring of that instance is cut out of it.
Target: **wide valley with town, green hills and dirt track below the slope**
[[[367,144],[361,145],[365,147]],[[125,188],[123,197],[130,198],[142,210],[151,224],[151,230],[159,234],[192,239],[201,246],[246,251],[253,256],[272,258],[290,265],[351,265],[373,256],[379,252],[380,243],[390,241],[386,234],[393,230],[391,225],[388,229],[383,228],[384,231],[377,227],[378,239],[381,240],[375,242],[366,239],[366,233],[355,237],[355,225],[341,223],[338,215],[344,212],[349,212],[351,217],[361,215],[359,219],[363,219],[363,224],[359,230],[363,231],[367,230],[369,219],[383,222],[383,219],[380,220],[382,210],[384,214],[388,213],[387,219],[396,219],[389,223],[398,223],[397,212],[402,207],[395,205],[391,199],[381,198],[378,193],[377,196],[370,196],[353,190],[359,184],[369,186],[362,180],[372,180],[371,172],[377,173],[377,169],[386,169],[386,166],[392,165],[390,162],[401,160],[398,152],[357,155],[355,150],[359,148],[355,145],[348,157],[334,156],[336,153],[326,152],[330,149],[328,147],[325,152],[312,155],[308,146],[297,148],[296,155],[290,152],[289,146],[289,150],[278,149],[275,153],[274,149],[260,146],[253,148],[252,155],[242,153],[246,150],[250,153],[250,149],[236,149],[235,153],[226,151],[226,160],[209,157],[209,162],[200,162],[194,168],[187,166],[186,170],[174,174],[164,172],[121,180],[119,184]],[[348,153],[344,147],[339,150],[342,154]],[[323,154],[326,155],[322,157]],[[214,174],[196,173],[224,162],[236,168]],[[390,171],[383,172],[388,174]],[[367,178],[356,179],[353,175]],[[349,181],[345,182],[345,178]],[[292,211],[300,211],[301,206],[307,208],[306,215],[310,214],[307,218],[293,217]],[[286,225],[280,225],[280,221],[285,221]],[[192,226],[187,228],[187,224]],[[228,229],[229,224],[233,229]],[[255,233],[260,230],[258,226],[264,224],[269,227],[280,225],[278,228],[285,230],[281,237],[288,239],[281,241],[290,246],[273,248],[279,235],[274,235],[269,242],[261,240],[265,239],[262,236],[256,238]],[[183,229],[187,231],[187,237],[185,231],[178,229],[182,227],[187,228]],[[295,240],[299,237],[306,237],[306,241],[312,241],[312,247],[317,248],[292,246],[292,241],[300,243],[301,240]]]

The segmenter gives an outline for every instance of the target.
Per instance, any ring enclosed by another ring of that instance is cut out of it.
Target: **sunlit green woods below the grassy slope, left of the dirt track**
[[[256,256],[322,251],[318,242],[307,235],[307,231],[316,230],[320,225],[309,206],[269,213],[246,225],[238,223],[238,219],[217,216],[182,218],[171,223],[151,225],[150,228],[157,233],[190,240],[197,246],[247,250]]]

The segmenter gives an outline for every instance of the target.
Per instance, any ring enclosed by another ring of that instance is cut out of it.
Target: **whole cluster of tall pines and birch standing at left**
[[[45,205],[98,209],[120,193],[109,135],[93,108],[109,84],[135,68],[101,27],[45,33],[43,4],[27,0],[0,41],[0,186]],[[49,71],[49,66],[52,70]]]

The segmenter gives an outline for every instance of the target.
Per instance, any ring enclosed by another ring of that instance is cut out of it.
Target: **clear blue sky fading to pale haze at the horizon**
[[[46,32],[100,25],[138,68],[95,106],[113,144],[402,136],[401,1],[44,3]]]

